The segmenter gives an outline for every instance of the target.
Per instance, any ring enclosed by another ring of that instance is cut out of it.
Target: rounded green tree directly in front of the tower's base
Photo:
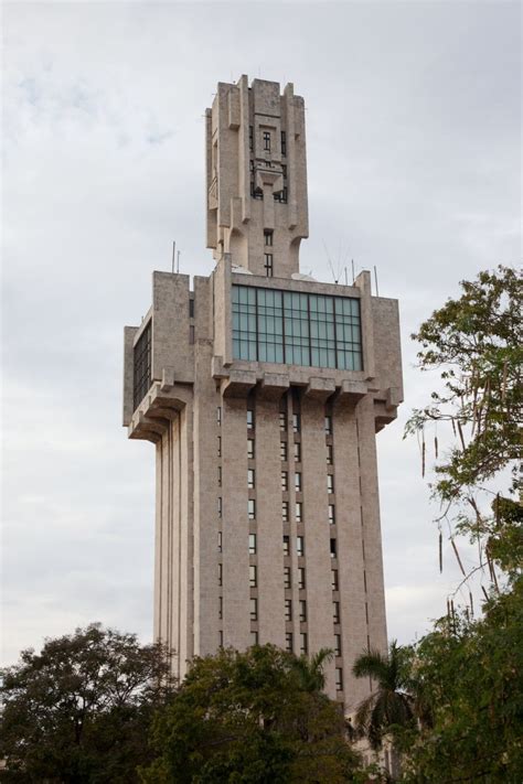
[[[142,782],[356,782],[339,706],[273,645],[195,658],[153,728]]]

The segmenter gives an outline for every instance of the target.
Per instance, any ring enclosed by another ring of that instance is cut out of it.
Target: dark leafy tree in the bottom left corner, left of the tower
[[[172,686],[160,645],[92,624],[23,651],[2,676],[2,781],[138,781],[152,712]]]

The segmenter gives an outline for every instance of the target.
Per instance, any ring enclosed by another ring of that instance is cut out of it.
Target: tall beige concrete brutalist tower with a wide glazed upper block
[[[398,309],[299,271],[303,99],[246,76],[206,111],[212,275],[153,272],[125,327],[124,425],[154,443],[154,636],[193,655],[335,651],[328,691],[386,647],[375,433],[402,400]]]

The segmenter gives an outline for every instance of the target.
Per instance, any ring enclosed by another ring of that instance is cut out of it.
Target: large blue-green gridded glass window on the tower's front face
[[[359,299],[232,288],[235,359],[362,369]]]

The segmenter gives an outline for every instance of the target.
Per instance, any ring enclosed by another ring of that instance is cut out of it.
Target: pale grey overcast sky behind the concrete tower
[[[218,80],[307,106],[302,271],[377,267],[406,399],[377,437],[389,637],[445,611],[418,447],[419,322],[521,257],[519,3],[3,6],[4,661],[102,621],[152,634],[153,447],[121,428],[122,326],[151,272],[209,275],[204,123]],[[468,556],[467,556],[468,557]]]

